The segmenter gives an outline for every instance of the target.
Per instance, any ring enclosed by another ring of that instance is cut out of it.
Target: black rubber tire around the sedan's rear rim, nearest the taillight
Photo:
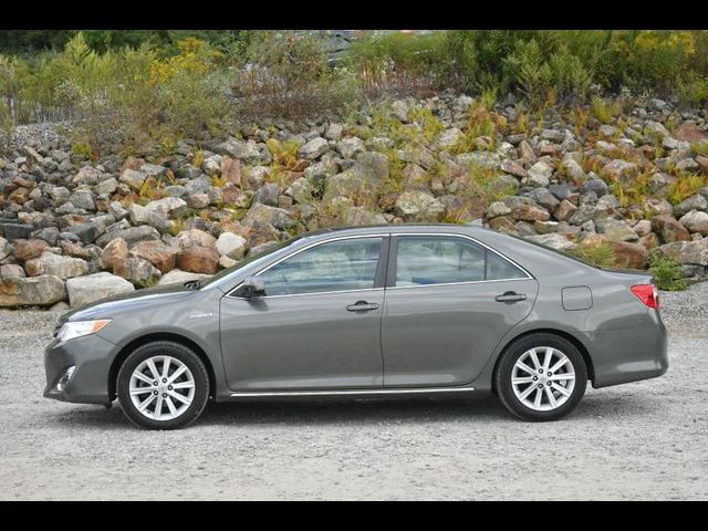
[[[537,410],[528,407],[517,397],[511,384],[511,376],[517,361],[530,348],[541,346],[551,346],[561,351],[568,356],[575,372],[575,385],[571,395],[565,403],[550,410]],[[585,394],[587,367],[582,354],[570,341],[555,334],[539,332],[514,341],[504,350],[494,374],[494,385],[501,403],[517,417],[531,421],[558,420],[571,413]]]

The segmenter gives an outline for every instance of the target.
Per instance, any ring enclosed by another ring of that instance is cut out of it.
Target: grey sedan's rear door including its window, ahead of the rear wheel
[[[472,382],[530,312],[538,283],[476,241],[395,236],[382,322],[384,386]]]

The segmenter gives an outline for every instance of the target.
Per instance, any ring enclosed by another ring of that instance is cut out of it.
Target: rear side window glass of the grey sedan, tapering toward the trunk
[[[527,274],[518,267],[465,238],[398,237],[396,285],[449,284],[524,278]]]

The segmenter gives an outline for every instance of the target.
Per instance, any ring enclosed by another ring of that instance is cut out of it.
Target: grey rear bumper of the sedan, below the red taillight
[[[587,334],[594,355],[593,387],[656,378],[668,369],[668,341],[659,314],[647,311],[631,329]]]

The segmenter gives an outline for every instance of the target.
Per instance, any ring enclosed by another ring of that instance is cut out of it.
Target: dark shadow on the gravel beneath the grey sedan
[[[125,429],[132,427],[117,403],[111,409],[76,406],[59,415],[48,415],[58,427]],[[586,395],[562,421],[618,419],[653,415],[659,403],[646,396],[620,394]],[[472,421],[479,424],[521,421],[509,414],[496,396],[412,398],[259,399],[209,403],[198,426],[431,424]]]

